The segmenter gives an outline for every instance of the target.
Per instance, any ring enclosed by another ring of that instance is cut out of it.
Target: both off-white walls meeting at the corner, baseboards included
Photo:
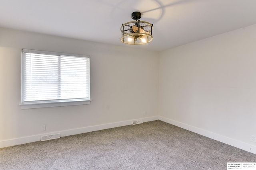
[[[160,120],[256,153],[255,44],[256,25],[160,54],[0,28],[0,147],[159,113]],[[21,109],[22,48],[90,55],[91,104]]]

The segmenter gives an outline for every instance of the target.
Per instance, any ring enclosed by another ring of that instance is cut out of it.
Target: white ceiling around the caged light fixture
[[[122,23],[154,24],[153,41],[126,45]],[[256,24],[256,0],[0,0],[0,27],[163,51]]]

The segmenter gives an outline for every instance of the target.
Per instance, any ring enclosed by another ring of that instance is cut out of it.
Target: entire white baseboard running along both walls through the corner
[[[192,131],[194,133],[198,133],[200,135],[203,135],[205,137],[209,137],[211,139],[214,139],[216,141],[220,141],[222,143],[226,143],[228,145],[231,145],[233,147],[246,150],[248,152],[256,154],[256,147],[249,145],[247,143],[243,143],[240,141],[236,141],[234,139],[224,137],[222,135],[218,135],[216,133],[212,133],[197,127],[193,127],[191,125],[187,125],[178,121],[174,121],[172,119],[168,119],[166,117],[162,116],[153,116],[153,117],[145,117],[145,118],[138,118],[134,120],[129,120],[129,121],[122,121],[122,122],[116,122],[116,123],[108,123],[108,124],[103,124],[103,125],[96,125],[96,126],[90,126],[90,127],[83,127],[83,128],[78,128],[78,129],[70,129],[70,130],[65,130],[65,131],[58,131],[58,132],[50,132],[50,133],[45,133],[45,134],[39,134],[39,135],[34,135],[34,136],[29,136],[29,137],[22,137],[22,138],[17,138],[17,139],[10,139],[6,141],[0,141],[0,148],[4,147],[11,147],[14,145],[21,145],[25,143],[31,143],[31,142],[37,142],[41,140],[42,135],[50,135],[53,133],[60,133],[60,137],[64,136],[70,136],[70,135],[77,135],[80,133],[87,133],[87,132],[92,132],[92,131],[99,131],[103,129],[110,129],[114,127],[121,127],[121,126],[126,126],[126,125],[132,125],[132,121],[142,119],[143,122],[147,121],[155,121],[155,120],[161,120],[166,123],[170,123],[172,125],[181,127],[183,129],[186,129],[188,131]]]

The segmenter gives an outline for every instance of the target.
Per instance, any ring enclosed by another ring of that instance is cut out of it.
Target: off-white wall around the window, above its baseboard
[[[21,109],[22,48],[90,55],[91,104]],[[7,141],[2,147],[43,133],[157,115],[158,53],[0,28],[0,143]]]

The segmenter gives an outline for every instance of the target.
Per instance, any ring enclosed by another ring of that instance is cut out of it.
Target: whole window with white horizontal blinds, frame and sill
[[[90,104],[90,56],[22,49],[22,109]]]

